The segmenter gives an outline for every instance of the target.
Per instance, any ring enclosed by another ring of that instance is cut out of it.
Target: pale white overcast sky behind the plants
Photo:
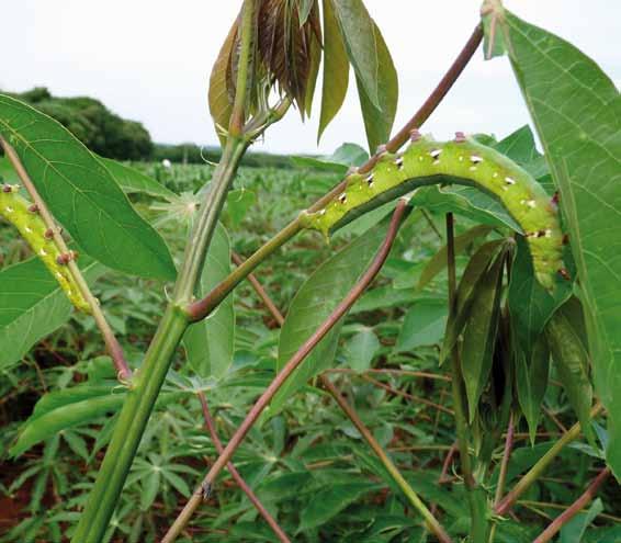
[[[216,144],[206,108],[207,79],[240,0],[2,3],[0,89],[45,86],[58,95],[92,95],[144,123],[157,142]],[[365,0],[365,4],[399,72],[395,124],[399,126],[471,34],[481,1]],[[577,45],[621,86],[620,0],[506,0],[505,5]],[[330,152],[342,142],[364,145],[354,87],[350,84],[346,104],[319,147],[316,103],[309,122],[303,125],[292,112],[257,148]],[[458,129],[503,136],[527,121],[507,59],[484,61],[477,54],[425,129],[437,138]]]

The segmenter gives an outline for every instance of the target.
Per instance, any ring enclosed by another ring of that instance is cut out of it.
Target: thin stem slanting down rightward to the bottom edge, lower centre
[[[360,419],[358,414],[353,410],[353,408],[347,403],[347,400],[341,396],[337,387],[330,382],[330,380],[326,375],[320,375],[321,384],[330,393],[332,398],[335,398],[336,403],[342,409],[342,411],[348,416],[348,418],[353,422],[353,426],[358,428],[358,431],[362,434],[366,443],[373,452],[377,455],[393,480],[397,484],[397,486],[402,489],[402,491],[406,495],[407,499],[411,504],[411,506],[422,516],[425,519],[425,523],[429,531],[431,531],[441,543],[450,543],[452,540],[442,525],[438,522],[436,517],[431,513],[431,511],[427,508],[427,506],[422,502],[422,500],[418,497],[416,491],[411,488],[409,483],[404,478],[402,473],[395,466],[393,461],[388,457],[388,455],[384,452],[380,443],[375,440],[371,430],[364,426],[364,422]]]

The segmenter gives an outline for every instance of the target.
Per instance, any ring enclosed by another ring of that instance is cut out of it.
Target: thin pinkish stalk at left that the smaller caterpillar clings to
[[[54,242],[56,244],[56,246],[58,247],[58,249],[63,254],[69,254],[70,253],[69,248],[67,247],[67,244],[65,242],[65,239],[60,234],[60,229],[58,228],[56,220],[54,220],[54,217],[49,212],[49,210],[47,208],[47,205],[38,194],[36,186],[32,182],[26,169],[24,168],[22,161],[20,160],[20,157],[15,152],[15,149],[13,149],[13,147],[1,136],[0,136],[0,146],[4,149],[4,152],[7,154],[7,157],[9,158],[15,172],[18,173],[18,177],[20,178],[24,188],[30,194],[33,203],[36,205],[42,220],[45,223],[45,226],[47,227],[48,231],[52,233],[52,238],[54,239]],[[99,305],[98,299],[91,293],[91,290],[89,289],[89,285],[84,280],[82,272],[80,271],[80,268],[78,267],[78,264],[75,262],[74,259],[68,260],[67,268],[69,269],[71,276],[76,281],[76,284],[78,285],[78,289],[80,290],[80,293],[82,294],[83,298],[89,304],[94,321],[99,330],[101,331],[108,352],[112,358],[114,367],[116,369],[116,375],[118,381],[127,382],[132,377],[132,370],[129,370],[129,366],[127,365],[127,361],[125,360],[125,357],[123,354],[123,348],[121,347],[121,343],[118,343],[118,340],[114,336],[112,328],[108,324],[108,320],[105,319],[105,316]]]

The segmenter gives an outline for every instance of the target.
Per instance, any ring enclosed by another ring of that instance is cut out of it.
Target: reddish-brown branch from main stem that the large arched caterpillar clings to
[[[429,94],[425,103],[418,109],[414,116],[402,127],[402,129],[386,144],[388,150],[397,150],[400,148],[408,139],[409,133],[414,128],[419,128],[425,124],[425,122],[436,111],[438,105],[442,102],[442,99],[447,95],[451,87],[459,79],[460,75],[464,68],[470,63],[470,59],[475,54],[476,49],[481,45],[483,39],[483,30],[481,24],[477,24],[474,29],[468,41],[465,43],[464,47],[444,75],[440,80],[436,89]],[[372,157],[363,166],[360,167],[360,171],[369,171],[375,166],[377,158]],[[315,202],[308,212],[315,212],[320,210],[326,203],[332,200],[336,195],[340,194],[346,185],[347,181],[341,181],[336,185],[330,192],[321,196],[317,202]],[[217,305],[233,291],[242,280],[248,275],[255,268],[257,268],[263,260],[266,260],[275,250],[282,247],[291,238],[293,238],[297,233],[302,230],[302,225],[300,217],[292,220],[287,226],[285,226],[280,233],[278,233],[272,239],[270,239],[266,245],[263,245],[255,254],[252,254],[248,260],[244,262],[239,268],[234,270],[226,279],[224,279],[214,290],[208,293],[203,299],[193,303],[188,308],[188,314],[192,321],[201,320],[205,318]]]

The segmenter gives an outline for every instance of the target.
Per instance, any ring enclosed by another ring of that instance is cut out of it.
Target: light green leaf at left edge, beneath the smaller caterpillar
[[[82,273],[93,282],[104,268],[92,261]],[[38,340],[65,324],[72,306],[39,259],[0,271],[0,369],[19,362]]]

